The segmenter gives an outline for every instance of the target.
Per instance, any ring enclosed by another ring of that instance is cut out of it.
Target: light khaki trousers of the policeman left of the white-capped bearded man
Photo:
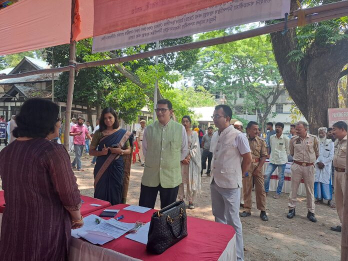
[[[301,183],[301,179],[303,178],[306,198],[307,198],[307,208],[309,212],[314,213],[314,175],[315,175],[315,167],[311,166],[302,166],[296,163],[292,163],[291,165],[291,192],[289,195],[289,209],[293,209],[296,207],[296,198],[297,198],[297,190],[298,186]]]

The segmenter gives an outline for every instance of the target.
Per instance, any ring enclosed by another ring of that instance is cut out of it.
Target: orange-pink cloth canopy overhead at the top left
[[[72,39],[114,32],[227,1],[76,0]],[[145,2],[151,7],[145,9]],[[136,11],[139,6],[143,11]],[[0,55],[69,43],[70,28],[71,0],[20,0],[0,10]]]

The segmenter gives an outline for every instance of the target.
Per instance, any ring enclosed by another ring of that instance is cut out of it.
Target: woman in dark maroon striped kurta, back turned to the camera
[[[25,101],[16,117],[18,138],[0,152],[6,201],[0,260],[67,260],[71,228],[83,225],[69,155],[49,140],[58,135],[58,113],[51,101]]]

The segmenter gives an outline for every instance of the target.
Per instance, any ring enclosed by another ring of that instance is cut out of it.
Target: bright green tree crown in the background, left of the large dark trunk
[[[202,33],[199,39],[222,36],[230,30]],[[210,92],[222,91],[232,108],[241,93],[243,109],[249,112],[259,109],[265,117],[270,112],[273,95],[281,88],[272,48],[264,35],[202,48],[197,64],[186,76],[192,78],[194,86],[204,86]]]

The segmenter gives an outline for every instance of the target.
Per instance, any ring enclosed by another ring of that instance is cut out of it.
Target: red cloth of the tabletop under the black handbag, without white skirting
[[[150,221],[154,212],[149,210],[145,213],[137,213],[123,210],[122,208],[126,206],[127,204],[118,204],[107,208],[121,209],[116,216],[123,214],[124,218],[121,221],[124,222],[137,220],[147,222]],[[102,209],[91,214],[99,215],[101,212]],[[159,255],[147,253],[145,244],[127,239],[124,235],[99,247],[112,249],[141,260],[217,260],[234,237],[235,231],[230,225],[188,216],[187,233],[185,238]]]

